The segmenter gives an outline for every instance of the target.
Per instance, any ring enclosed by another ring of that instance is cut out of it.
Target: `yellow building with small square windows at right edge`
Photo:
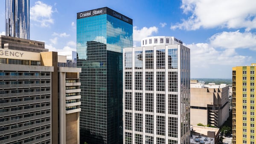
[[[232,134],[233,144],[254,144],[254,84],[256,64],[232,68]]]

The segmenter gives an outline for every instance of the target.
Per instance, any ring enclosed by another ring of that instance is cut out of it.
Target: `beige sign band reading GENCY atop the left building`
[[[29,51],[17,51],[0,48],[0,58],[40,61],[41,54]]]

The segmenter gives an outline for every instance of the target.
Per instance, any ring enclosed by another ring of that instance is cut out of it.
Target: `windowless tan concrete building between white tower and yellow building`
[[[229,117],[229,86],[190,82],[190,124],[221,127]]]

